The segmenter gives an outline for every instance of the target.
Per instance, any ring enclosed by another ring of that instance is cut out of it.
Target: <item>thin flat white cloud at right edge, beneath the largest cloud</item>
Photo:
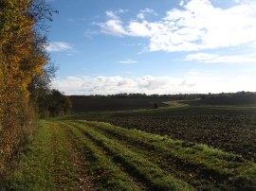
[[[217,55],[197,53],[188,55],[184,61],[199,61],[205,63],[256,63],[256,54],[250,55]]]

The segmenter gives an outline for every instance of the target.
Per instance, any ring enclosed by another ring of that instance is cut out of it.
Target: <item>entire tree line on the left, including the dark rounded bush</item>
[[[46,52],[46,22],[54,13],[45,0],[0,1],[0,185],[34,126],[33,116],[55,116],[71,107],[49,88],[56,67]]]

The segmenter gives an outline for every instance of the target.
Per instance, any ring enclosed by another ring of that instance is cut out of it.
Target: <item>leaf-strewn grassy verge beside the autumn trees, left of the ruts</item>
[[[10,180],[13,190],[56,190],[75,186],[71,148],[64,132],[52,123],[41,121],[31,145],[21,158]]]

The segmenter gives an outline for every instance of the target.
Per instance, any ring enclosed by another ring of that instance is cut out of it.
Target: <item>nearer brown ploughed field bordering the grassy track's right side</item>
[[[133,112],[80,113],[71,116],[74,117],[206,144],[256,161],[255,107],[184,106]]]

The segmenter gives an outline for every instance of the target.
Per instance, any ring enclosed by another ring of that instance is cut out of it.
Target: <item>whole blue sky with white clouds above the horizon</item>
[[[256,92],[255,0],[50,0],[66,95]]]

